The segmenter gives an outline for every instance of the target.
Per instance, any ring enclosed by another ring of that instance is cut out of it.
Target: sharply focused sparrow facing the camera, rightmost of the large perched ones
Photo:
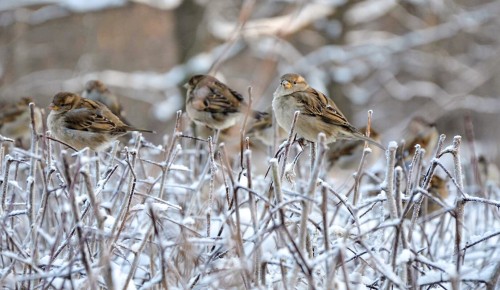
[[[299,111],[295,132],[307,141],[316,142],[318,134],[323,132],[326,143],[361,140],[385,150],[384,146],[351,125],[332,99],[310,87],[299,74],[281,76],[273,95],[273,111],[278,125],[287,132],[292,128],[295,111]]]

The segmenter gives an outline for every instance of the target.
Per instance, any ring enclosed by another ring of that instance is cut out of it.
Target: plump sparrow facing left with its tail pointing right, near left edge
[[[57,93],[49,109],[47,127],[52,135],[77,150],[101,151],[130,131],[154,133],[126,125],[103,103],[74,93]]]

